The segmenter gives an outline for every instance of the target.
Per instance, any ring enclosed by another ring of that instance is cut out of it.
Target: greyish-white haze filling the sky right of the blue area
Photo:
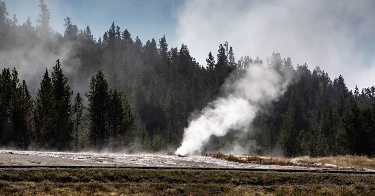
[[[257,3],[261,2],[261,3]],[[375,1],[185,1],[178,12],[177,43],[205,64],[217,43],[265,62],[273,51],[294,65],[340,74],[350,90],[374,85]],[[355,73],[353,73],[355,69]],[[361,78],[361,80],[358,80]]]

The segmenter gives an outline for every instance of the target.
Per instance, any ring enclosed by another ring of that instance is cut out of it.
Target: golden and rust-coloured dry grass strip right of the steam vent
[[[233,156],[231,154],[214,154],[215,159],[228,160],[238,163],[255,163],[263,165],[282,165],[282,166],[304,166],[314,168],[331,168],[357,171],[375,171],[375,159],[367,156],[329,156],[316,157],[309,156],[286,158],[286,157],[268,157],[252,154],[250,156]]]

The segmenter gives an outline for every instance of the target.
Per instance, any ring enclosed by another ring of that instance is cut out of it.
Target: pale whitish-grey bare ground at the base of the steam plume
[[[13,154],[10,154],[12,152]],[[229,162],[204,156],[99,154],[0,150],[0,165],[178,166],[212,168],[318,169]]]

